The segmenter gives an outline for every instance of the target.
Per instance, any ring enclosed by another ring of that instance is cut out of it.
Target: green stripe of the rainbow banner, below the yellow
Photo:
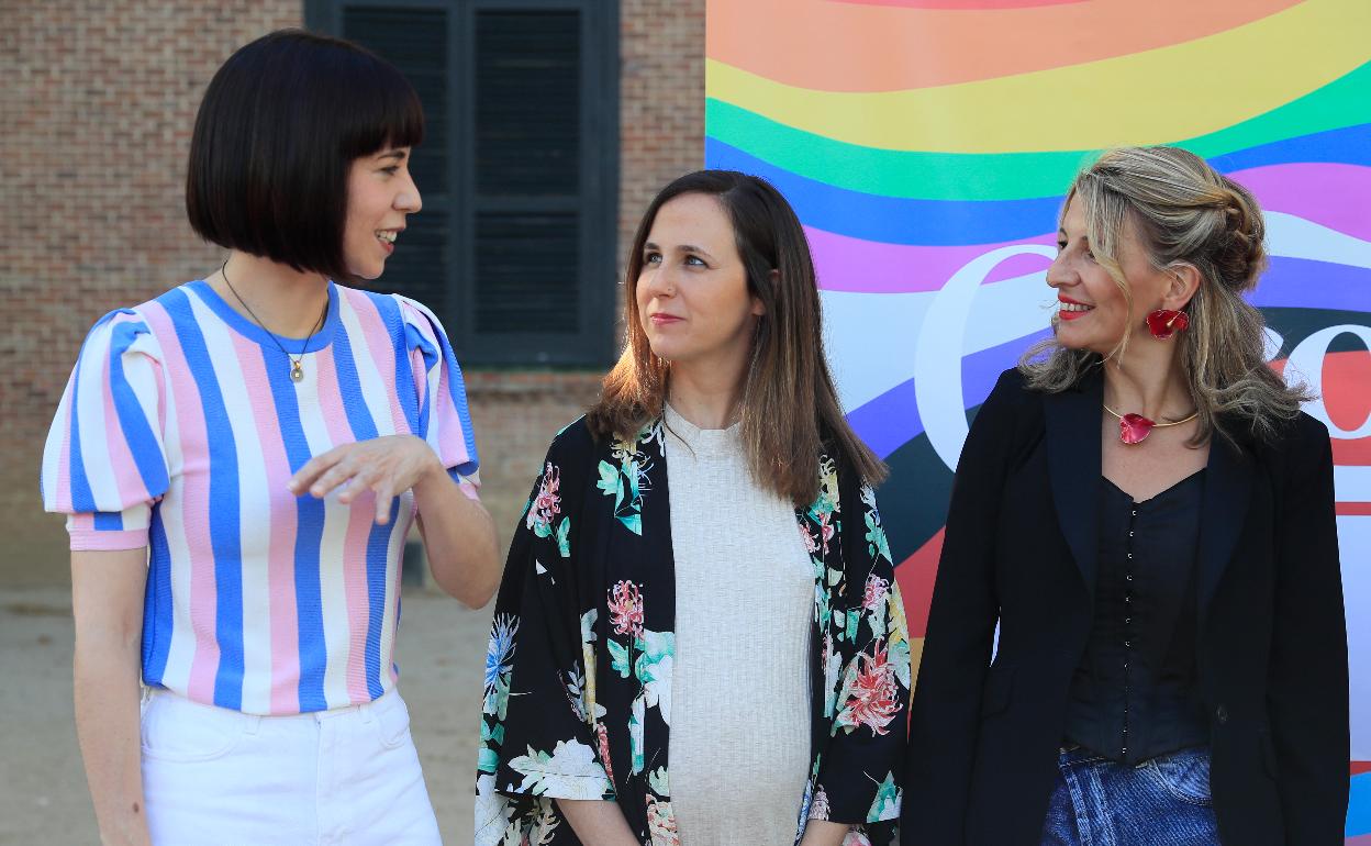
[[[1213,158],[1272,141],[1344,129],[1366,121],[1371,63],[1265,114],[1178,141]],[[713,97],[705,100],[709,137],[776,167],[836,188],[920,200],[1019,200],[1060,195],[1095,152],[957,154],[877,149],[777,123]]]

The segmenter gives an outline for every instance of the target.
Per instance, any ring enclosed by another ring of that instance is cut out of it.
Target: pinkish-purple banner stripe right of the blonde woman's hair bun
[[[1371,167],[1300,163],[1228,174],[1267,211],[1283,211],[1361,240],[1371,240]]]

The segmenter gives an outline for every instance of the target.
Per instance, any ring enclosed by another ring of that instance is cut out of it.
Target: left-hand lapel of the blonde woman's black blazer
[[[1057,522],[1094,602],[1100,535],[1100,403],[1104,380],[1098,370],[1073,391],[1043,396],[1047,428],[1047,477]]]

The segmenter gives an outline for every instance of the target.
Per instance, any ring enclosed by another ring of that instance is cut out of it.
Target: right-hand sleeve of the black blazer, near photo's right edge
[[[1268,714],[1286,839],[1342,843],[1350,756],[1348,632],[1333,448],[1301,415],[1279,499]]]

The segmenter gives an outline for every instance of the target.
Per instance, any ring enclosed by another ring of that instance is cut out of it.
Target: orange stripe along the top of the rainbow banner
[[[705,45],[710,59],[784,85],[905,90],[1138,53],[1235,29],[1293,5],[1297,0],[1095,0],[961,11],[827,0],[713,0]]]

